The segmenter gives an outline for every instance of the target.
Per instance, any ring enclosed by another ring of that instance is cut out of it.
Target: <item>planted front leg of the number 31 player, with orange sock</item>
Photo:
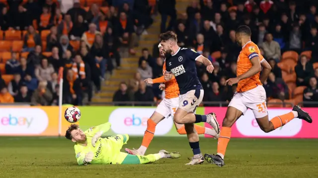
[[[224,166],[225,152],[231,139],[231,127],[246,111],[247,107],[242,102],[241,93],[235,93],[222,122],[221,133],[218,139],[217,155],[205,154],[204,158],[207,162],[220,167]]]

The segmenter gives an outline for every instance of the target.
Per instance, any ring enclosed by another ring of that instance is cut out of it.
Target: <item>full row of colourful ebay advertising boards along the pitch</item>
[[[67,107],[63,106],[62,111]],[[80,106],[80,127],[88,129],[107,121],[112,127],[107,135],[128,133],[142,136],[147,127],[147,119],[155,111],[155,107],[115,107],[115,106]],[[217,114],[219,123],[225,117],[226,107],[198,107],[197,114]],[[250,110],[246,112],[233,126],[232,137],[237,138],[318,138],[315,122],[318,108],[305,108],[314,122],[309,124],[300,119],[294,119],[287,125],[270,133],[264,133]],[[64,135],[70,123],[66,119],[59,121],[58,106],[29,107],[29,106],[0,106],[0,135],[1,136],[59,136]],[[289,112],[288,108],[270,108],[269,118]],[[63,115],[62,115],[63,116]],[[64,117],[63,117],[64,118]],[[203,123],[199,123],[203,125]],[[207,125],[209,126],[209,125]],[[156,128],[159,136],[180,136],[173,125],[172,119],[164,119]]]

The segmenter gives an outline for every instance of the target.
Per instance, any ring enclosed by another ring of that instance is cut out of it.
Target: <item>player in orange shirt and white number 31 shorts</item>
[[[240,26],[236,31],[237,42],[242,47],[237,61],[237,77],[228,79],[226,84],[232,86],[238,83],[237,92],[229,104],[222,123],[217,155],[204,155],[207,162],[219,167],[224,166],[224,155],[231,138],[231,127],[240,116],[245,114],[247,108],[252,110],[260,129],[266,133],[285,125],[294,118],[313,122],[311,116],[299,106],[294,106],[290,113],[268,119],[266,92],[262,83],[267,79],[271,66],[260,54],[257,45],[251,42],[250,36],[251,31],[248,26]],[[261,67],[263,67],[263,73],[260,76]]]

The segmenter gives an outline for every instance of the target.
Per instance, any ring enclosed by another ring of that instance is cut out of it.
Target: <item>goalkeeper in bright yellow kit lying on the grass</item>
[[[79,125],[72,124],[66,131],[65,137],[75,142],[74,149],[79,165],[87,164],[147,164],[153,163],[161,158],[179,158],[177,152],[160,150],[157,154],[147,156],[129,155],[120,152],[127,143],[129,136],[113,135],[101,138],[101,135],[110,129],[109,122],[90,127],[82,131]]]

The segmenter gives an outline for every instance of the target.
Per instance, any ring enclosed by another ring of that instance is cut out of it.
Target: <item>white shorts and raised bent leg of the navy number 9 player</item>
[[[202,102],[203,95],[203,90],[191,90],[188,91],[186,94],[180,95],[179,108],[175,112],[173,120],[179,124],[207,122],[217,131],[217,133],[219,133],[220,125],[215,118],[215,114],[194,114],[196,108]]]

